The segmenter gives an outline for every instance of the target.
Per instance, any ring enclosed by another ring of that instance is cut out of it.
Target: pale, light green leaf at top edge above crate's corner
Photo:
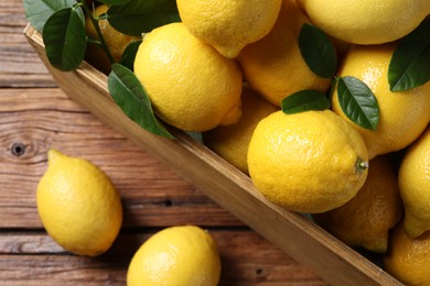
[[[71,8],[76,4],[76,0],[24,0],[26,20],[40,33],[47,19],[63,8]]]

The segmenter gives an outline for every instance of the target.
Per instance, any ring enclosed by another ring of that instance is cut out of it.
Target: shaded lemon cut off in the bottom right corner
[[[405,285],[430,285],[430,231],[409,238],[399,223],[390,233],[385,270]]]

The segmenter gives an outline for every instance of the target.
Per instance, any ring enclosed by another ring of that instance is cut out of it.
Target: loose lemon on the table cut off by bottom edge
[[[133,255],[128,286],[216,286],[221,258],[215,240],[195,226],[157,232]]]

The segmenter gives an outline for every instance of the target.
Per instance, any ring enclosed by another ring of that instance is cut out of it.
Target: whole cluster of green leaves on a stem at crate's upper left
[[[75,70],[84,61],[87,44],[98,44],[112,65],[108,88],[122,111],[140,127],[160,136],[173,138],[158,121],[144,88],[131,72],[141,41],[131,43],[115,63],[98,26],[107,19],[119,32],[141,35],[157,26],[179,21],[174,0],[100,0],[110,6],[107,13],[95,18],[85,0],[23,0],[29,22],[43,36],[46,57],[63,72]],[[85,14],[97,32],[98,38],[86,35]]]

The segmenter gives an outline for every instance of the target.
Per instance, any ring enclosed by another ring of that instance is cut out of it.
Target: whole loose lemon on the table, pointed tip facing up
[[[90,162],[50,150],[37,186],[37,211],[47,233],[64,249],[96,256],[114,243],[122,223],[119,194]]]

